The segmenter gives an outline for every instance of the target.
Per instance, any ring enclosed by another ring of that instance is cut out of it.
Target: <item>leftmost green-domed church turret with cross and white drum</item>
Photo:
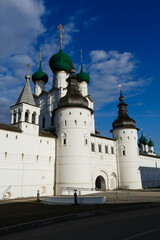
[[[39,69],[32,75],[32,81],[34,83],[34,94],[39,96],[42,91],[45,91],[45,85],[48,82],[48,75],[42,71],[41,67],[41,48]]]

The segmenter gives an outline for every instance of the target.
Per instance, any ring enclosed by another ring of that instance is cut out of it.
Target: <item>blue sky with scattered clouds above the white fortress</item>
[[[13,105],[30,74],[53,75],[49,58],[59,50],[57,25],[65,29],[63,51],[90,75],[96,129],[111,137],[122,84],[130,117],[160,154],[160,1],[159,0],[2,0],[0,1],[0,122],[10,122]],[[33,83],[31,82],[32,88]]]

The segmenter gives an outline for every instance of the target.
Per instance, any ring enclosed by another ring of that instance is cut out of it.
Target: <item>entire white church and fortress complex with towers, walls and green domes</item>
[[[95,193],[160,186],[160,156],[128,116],[120,90],[112,138],[95,130],[90,77],[76,74],[70,56],[60,51],[49,60],[53,85],[39,70],[10,107],[11,124],[0,123],[0,199]]]

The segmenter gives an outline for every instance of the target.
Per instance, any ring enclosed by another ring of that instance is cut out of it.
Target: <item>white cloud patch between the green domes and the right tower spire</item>
[[[91,77],[90,91],[97,109],[117,101],[119,84],[122,85],[125,96],[128,93],[135,95],[141,93],[152,80],[135,77],[134,71],[138,60],[130,52],[93,50],[90,57],[91,63],[88,68]]]

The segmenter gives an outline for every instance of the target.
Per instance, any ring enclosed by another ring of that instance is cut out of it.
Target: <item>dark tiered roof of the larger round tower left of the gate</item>
[[[77,85],[78,78],[75,76],[75,68],[73,64],[70,69],[71,76],[67,79],[68,87],[67,93],[64,97],[60,98],[58,102],[58,108],[62,107],[83,107],[88,108],[88,101],[79,92],[79,87]]]

